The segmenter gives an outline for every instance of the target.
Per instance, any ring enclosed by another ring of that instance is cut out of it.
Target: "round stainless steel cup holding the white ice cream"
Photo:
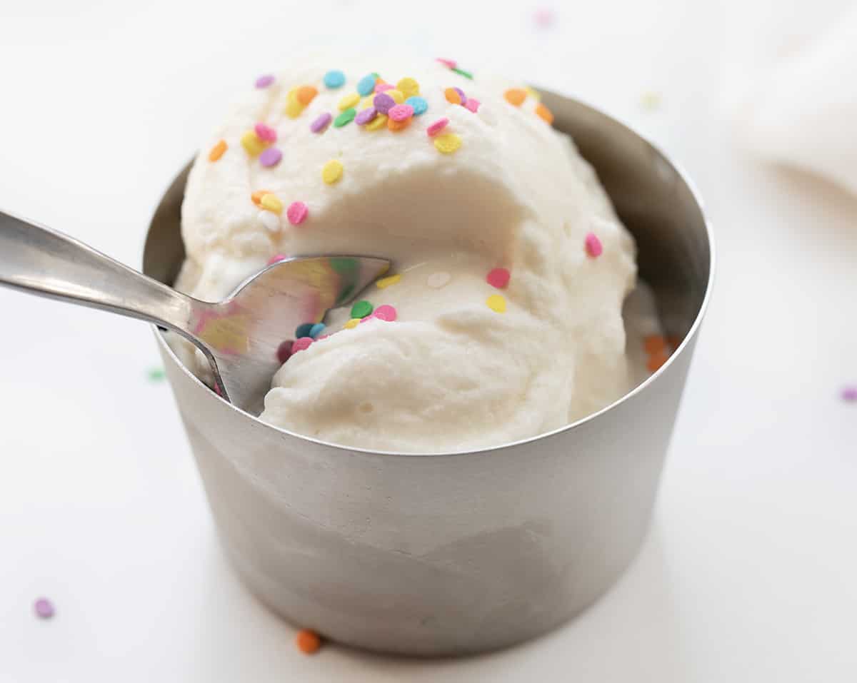
[[[653,377],[560,430],[472,453],[382,454],[261,423],[221,400],[158,333],[208,502],[250,591],[341,643],[461,655],[518,643],[601,596],[637,553],[710,294],[710,229],[689,181],[601,112],[545,92],[637,239],[640,275],[683,341]],[[144,270],[171,283],[184,178]]]

